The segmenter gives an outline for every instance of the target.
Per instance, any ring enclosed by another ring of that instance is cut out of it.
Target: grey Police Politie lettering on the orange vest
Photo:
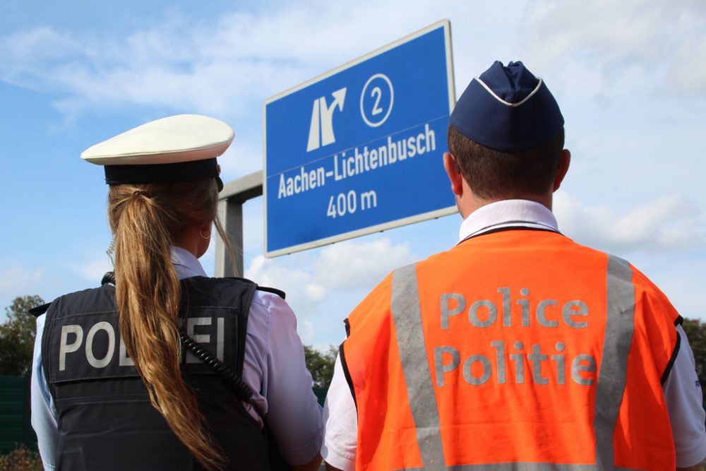
[[[530,327],[532,323],[537,323],[543,328],[551,329],[556,328],[560,322],[575,329],[588,326],[589,306],[580,299],[542,299],[536,306],[532,306],[530,299],[527,299],[530,295],[529,288],[522,287],[519,294],[520,297],[513,300],[510,287],[498,287],[496,297],[492,299],[468,301],[460,293],[442,293],[439,297],[441,329],[465,328],[468,325],[473,328],[488,328],[496,322],[502,323],[503,327],[517,326],[517,323],[522,327]],[[519,313],[515,306],[519,306]],[[467,322],[456,317],[460,317],[460,314],[467,314]],[[464,322],[466,325],[460,326],[458,322]],[[577,354],[567,359],[564,354],[566,341],[553,342],[553,345],[525,345],[519,340],[492,340],[487,350],[469,355],[465,359],[461,358],[457,347],[435,346],[433,352],[436,386],[445,385],[446,374],[462,374],[466,383],[471,386],[485,384],[491,381],[491,378],[498,384],[522,384],[525,383],[525,376],[531,376],[534,383],[548,384],[549,375],[546,372],[549,368],[553,368],[556,373],[552,375],[556,378],[556,383],[563,385],[567,381],[567,364],[570,364],[569,376],[572,381],[581,386],[592,386],[596,359],[590,354]],[[506,359],[508,356],[509,362]],[[491,359],[494,359],[494,365]],[[514,375],[508,373],[508,363]],[[525,375],[525,364],[531,365],[531,374],[528,372]]]

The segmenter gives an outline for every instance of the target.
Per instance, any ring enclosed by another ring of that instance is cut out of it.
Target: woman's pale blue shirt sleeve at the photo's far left
[[[32,379],[30,380],[30,404],[32,409],[32,428],[37,434],[37,445],[40,448],[42,463],[45,470],[54,470],[54,452],[59,429],[56,426],[56,407],[49,394],[49,385],[42,368],[42,333],[47,315],[37,317],[37,336],[32,357]]]

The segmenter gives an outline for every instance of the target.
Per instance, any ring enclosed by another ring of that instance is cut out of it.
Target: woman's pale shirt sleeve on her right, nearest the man
[[[321,406],[311,389],[297,318],[284,299],[256,292],[248,319],[243,376],[273,432],[282,458],[309,463],[321,448]]]

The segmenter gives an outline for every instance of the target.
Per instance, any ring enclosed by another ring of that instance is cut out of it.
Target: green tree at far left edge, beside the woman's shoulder
[[[7,320],[0,324],[0,374],[30,374],[37,321],[28,311],[41,304],[44,299],[35,294],[18,296],[5,308]]]

